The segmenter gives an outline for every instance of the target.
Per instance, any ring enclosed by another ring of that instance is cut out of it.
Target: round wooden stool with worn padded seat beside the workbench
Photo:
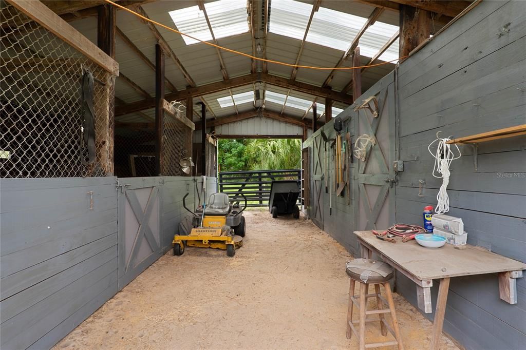
[[[388,264],[375,261],[370,259],[355,259],[349,261],[346,265],[346,272],[351,277],[349,286],[349,305],[347,310],[347,339],[351,338],[352,332],[358,337],[360,342],[360,350],[371,347],[398,345],[398,349],[403,349],[402,337],[400,336],[400,330],[398,328],[398,320],[395,312],[395,302],[391,294],[391,286],[389,281],[393,276],[393,269]],[[355,296],[355,283],[360,284],[360,295],[359,300]],[[375,286],[375,293],[369,293],[369,284]],[[383,285],[386,290],[387,300],[380,294],[380,284]],[[378,310],[367,311],[367,299],[370,297],[376,297],[376,303]],[[360,317],[358,321],[352,321],[353,306],[356,304],[358,307]],[[389,308],[383,308],[383,305],[389,305]],[[372,318],[366,318],[367,315],[379,316],[379,320],[372,320]],[[391,314],[392,328],[386,321],[384,314]],[[365,343],[365,324],[367,322],[380,321],[380,330],[383,336],[387,336],[387,331],[395,337],[394,341],[381,342],[381,343]],[[355,325],[359,324],[359,331],[356,331]]]

